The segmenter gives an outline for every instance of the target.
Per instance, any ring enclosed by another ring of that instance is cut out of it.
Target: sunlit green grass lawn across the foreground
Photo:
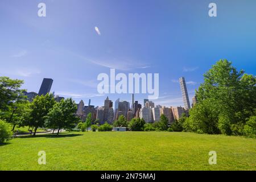
[[[46,165],[38,152],[46,151]],[[209,151],[217,164],[208,163]],[[0,146],[0,170],[256,170],[256,139],[171,132],[72,132]]]

